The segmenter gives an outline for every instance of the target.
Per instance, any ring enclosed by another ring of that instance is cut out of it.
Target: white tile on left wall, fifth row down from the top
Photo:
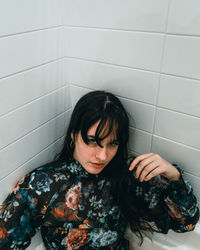
[[[0,151],[0,180],[64,134],[65,113],[45,123]]]

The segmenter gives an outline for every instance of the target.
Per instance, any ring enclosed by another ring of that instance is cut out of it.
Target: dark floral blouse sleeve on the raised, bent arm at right
[[[142,218],[154,222],[160,232],[172,229],[181,233],[195,228],[199,219],[197,199],[182,175],[177,181],[158,175],[148,182],[140,182],[133,174],[131,187]]]

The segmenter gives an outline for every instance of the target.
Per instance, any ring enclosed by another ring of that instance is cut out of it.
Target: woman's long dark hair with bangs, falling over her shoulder
[[[101,146],[101,140],[106,138],[113,130],[116,130],[114,132],[119,142],[118,151],[102,173],[110,178],[113,196],[123,216],[130,223],[131,230],[140,236],[142,243],[141,230],[152,232],[152,227],[141,219],[141,202],[133,196],[132,185],[127,185],[131,183],[131,178],[133,178],[127,165],[129,117],[115,95],[105,91],[92,91],[80,98],[72,112],[64,146],[56,161],[64,161],[67,164],[73,161],[73,138],[80,132],[87,144],[87,132],[98,121],[100,122],[96,129],[95,139],[99,146]],[[106,134],[104,133],[105,126],[108,128]],[[102,134],[103,137],[100,137]]]

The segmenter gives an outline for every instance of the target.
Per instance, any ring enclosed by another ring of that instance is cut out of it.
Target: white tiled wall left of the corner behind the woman
[[[0,0],[0,201],[53,159],[71,106],[57,0]]]

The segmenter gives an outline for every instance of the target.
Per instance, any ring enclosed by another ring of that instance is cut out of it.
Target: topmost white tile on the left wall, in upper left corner
[[[62,24],[57,0],[0,0],[0,37]]]

